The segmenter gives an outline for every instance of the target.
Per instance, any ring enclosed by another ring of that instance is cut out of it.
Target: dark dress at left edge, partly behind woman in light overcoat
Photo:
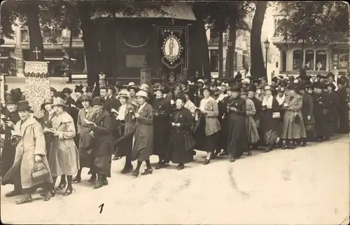
[[[13,124],[16,124],[18,121],[20,121],[20,116],[18,115],[17,111],[10,113],[6,109],[4,115],[6,117],[6,120],[13,122]],[[8,170],[13,166],[13,162],[15,161],[16,145],[11,145],[12,130],[13,129],[9,126],[6,126],[5,130],[3,130],[2,126],[0,127],[0,133],[5,134],[5,139],[3,140],[3,149],[1,152],[1,177],[3,177],[3,175],[8,172]],[[10,183],[12,184],[13,182],[11,181]]]

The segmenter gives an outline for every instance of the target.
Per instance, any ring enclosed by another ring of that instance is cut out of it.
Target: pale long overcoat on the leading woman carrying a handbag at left
[[[15,161],[13,166],[3,176],[3,182],[7,180],[14,180],[20,177],[22,188],[28,189],[31,187],[37,187],[44,182],[52,183],[52,176],[42,180],[34,180],[31,177],[31,171],[35,164],[35,155],[41,156],[43,164],[50,170],[48,159],[46,158],[45,151],[45,136],[41,125],[34,119],[33,116],[29,116],[22,124],[22,120],[15,124],[15,134],[20,136],[20,142],[16,146]],[[18,173],[20,172],[20,173]]]

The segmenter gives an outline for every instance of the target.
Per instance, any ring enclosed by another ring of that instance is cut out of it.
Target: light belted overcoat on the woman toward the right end
[[[302,96],[295,94],[293,98],[286,96],[285,103],[290,106],[290,110],[285,111],[283,115],[283,131],[282,139],[298,139],[306,138],[304,120],[302,118]],[[296,115],[299,116],[299,121],[296,122]]]

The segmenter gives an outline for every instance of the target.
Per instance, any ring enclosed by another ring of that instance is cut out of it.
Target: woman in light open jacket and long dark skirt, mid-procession
[[[195,150],[207,152],[204,165],[210,163],[211,154],[217,147],[218,132],[221,125],[218,121],[218,103],[210,96],[211,89],[204,87],[204,98],[200,101],[200,117],[195,122]]]

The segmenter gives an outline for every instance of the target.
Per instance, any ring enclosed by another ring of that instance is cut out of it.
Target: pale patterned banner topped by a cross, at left
[[[25,96],[37,118],[43,116],[41,104],[50,98],[50,76],[48,62],[25,61]]]

